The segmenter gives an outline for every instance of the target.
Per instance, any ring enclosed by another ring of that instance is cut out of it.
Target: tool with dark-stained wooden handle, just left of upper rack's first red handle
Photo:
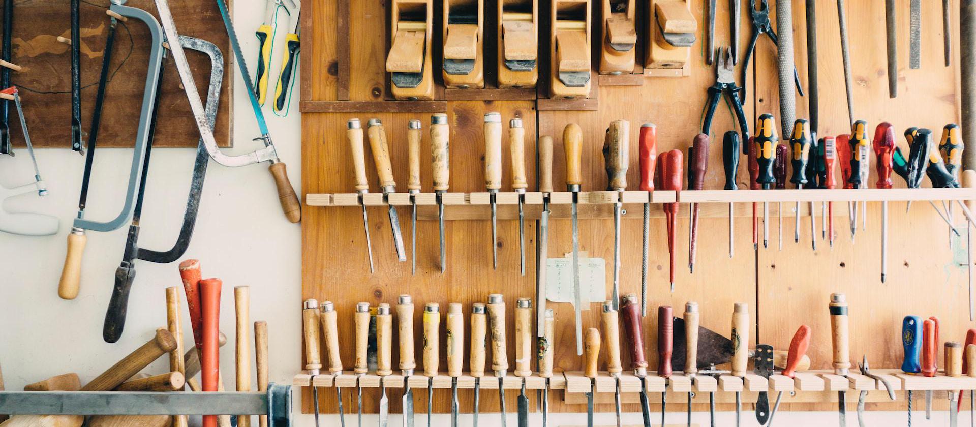
[[[629,145],[630,123],[626,120],[610,122],[603,143],[603,162],[607,171],[607,190],[617,192],[617,203],[613,206],[613,291],[610,294],[614,310],[620,306],[620,216],[624,210],[624,190],[627,189]]]

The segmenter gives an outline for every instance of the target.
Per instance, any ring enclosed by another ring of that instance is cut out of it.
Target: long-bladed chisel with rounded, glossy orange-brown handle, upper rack
[[[573,193],[573,308],[576,310],[576,355],[583,355],[583,298],[580,290],[580,219],[577,204],[583,183],[583,130],[570,123],[562,130],[563,152],[566,154],[566,189]]]

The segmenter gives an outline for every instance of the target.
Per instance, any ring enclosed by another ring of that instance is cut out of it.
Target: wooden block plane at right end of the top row
[[[695,44],[698,21],[685,0],[651,0],[645,68],[682,68]]]

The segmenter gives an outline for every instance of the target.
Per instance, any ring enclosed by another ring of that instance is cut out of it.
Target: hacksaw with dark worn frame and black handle
[[[183,48],[201,52],[210,58],[210,87],[207,90],[207,121],[213,126],[217,120],[217,107],[220,104],[221,86],[224,83],[224,54],[221,53],[217,45],[196,37],[182,35],[180,36],[180,44]],[[160,73],[161,75],[162,73]],[[154,112],[152,116],[153,127],[157,113],[158,111]],[[149,137],[151,138],[152,135]],[[146,153],[148,152],[146,151]],[[183,256],[183,252],[186,252],[190,237],[193,235],[193,226],[196,224],[196,214],[200,208],[200,194],[203,191],[203,181],[207,175],[207,164],[209,161],[210,157],[207,154],[206,145],[201,138],[197,142],[196,160],[193,163],[193,179],[190,182],[189,195],[186,197],[186,211],[183,214],[183,226],[180,227],[180,236],[177,237],[177,242],[173,245],[173,248],[165,252],[143,249],[138,245],[140,220],[142,217],[142,199],[145,196],[146,173],[142,174],[139,196],[136,199],[136,210],[132,216],[132,224],[129,225],[129,237],[126,240],[125,250],[122,253],[122,263],[115,269],[115,286],[112,288],[112,296],[108,301],[108,310],[105,313],[105,323],[102,328],[102,338],[104,338],[105,342],[118,341],[122,336],[122,330],[125,327],[126,309],[129,302],[129,291],[132,289],[133,281],[136,279],[136,259],[168,263],[179,259]],[[145,168],[148,168],[148,159],[145,162]]]

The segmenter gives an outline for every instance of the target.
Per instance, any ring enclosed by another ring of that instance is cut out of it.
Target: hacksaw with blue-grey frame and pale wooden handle
[[[85,219],[85,204],[88,198],[88,185],[91,181],[92,163],[95,158],[95,144],[98,136],[99,123],[102,113],[102,103],[104,100],[105,87],[108,85],[108,69],[111,60],[111,47],[114,41],[115,18],[111,19],[108,38],[105,41],[105,53],[102,60],[102,76],[99,84],[99,92],[95,101],[95,112],[92,116],[92,135],[88,143],[88,155],[85,158],[85,172],[81,181],[81,197],[78,202],[78,216],[74,219],[71,233],[67,236],[67,255],[64,258],[64,267],[61,270],[61,282],[59,283],[58,294],[63,299],[74,299],[78,295],[78,286],[81,276],[81,256],[85,250],[85,230],[112,231],[122,226],[134,210],[134,199],[136,186],[142,180],[143,158],[145,156],[147,141],[150,134],[150,117],[153,112],[156,95],[158,93],[157,81],[159,79],[160,65],[163,60],[163,36],[159,22],[148,12],[142,9],[122,6],[120,0],[112,0],[108,9],[126,18],[139,19],[149,29],[150,51],[147,71],[145,75],[145,91],[142,94],[142,112],[139,117],[139,128],[136,133],[136,143],[132,157],[132,167],[129,171],[129,185],[126,188],[125,203],[122,211],[115,218],[100,222]]]

